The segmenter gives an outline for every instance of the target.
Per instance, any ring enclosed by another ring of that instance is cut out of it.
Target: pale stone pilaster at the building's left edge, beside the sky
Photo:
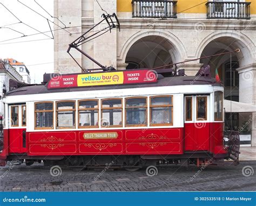
[[[60,27],[64,28],[64,25],[57,19],[54,20],[55,25],[54,32],[54,71],[57,73],[80,73],[80,67],[69,56],[68,50],[69,44],[81,35],[82,32],[82,0],[73,1],[60,1],[54,2],[54,16],[58,17],[66,27],[76,26],[71,29],[66,29],[70,33],[64,31]],[[82,54],[77,51],[71,51],[73,57],[76,58],[79,64],[82,61]]]

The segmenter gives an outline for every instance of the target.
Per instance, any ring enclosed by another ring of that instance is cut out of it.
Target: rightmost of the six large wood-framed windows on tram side
[[[150,98],[150,126],[172,125],[172,96]]]

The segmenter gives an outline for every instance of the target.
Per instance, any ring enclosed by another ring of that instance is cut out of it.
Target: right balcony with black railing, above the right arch
[[[250,19],[251,2],[207,2],[207,18]]]

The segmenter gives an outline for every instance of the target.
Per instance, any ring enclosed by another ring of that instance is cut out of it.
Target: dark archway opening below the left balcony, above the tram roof
[[[126,69],[154,68],[172,64],[177,52],[173,44],[161,36],[147,36],[137,40],[129,49]],[[167,67],[166,67],[167,68]]]

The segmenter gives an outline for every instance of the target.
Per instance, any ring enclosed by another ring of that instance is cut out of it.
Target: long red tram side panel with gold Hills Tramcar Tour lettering
[[[184,128],[29,132],[28,155],[183,154]]]

